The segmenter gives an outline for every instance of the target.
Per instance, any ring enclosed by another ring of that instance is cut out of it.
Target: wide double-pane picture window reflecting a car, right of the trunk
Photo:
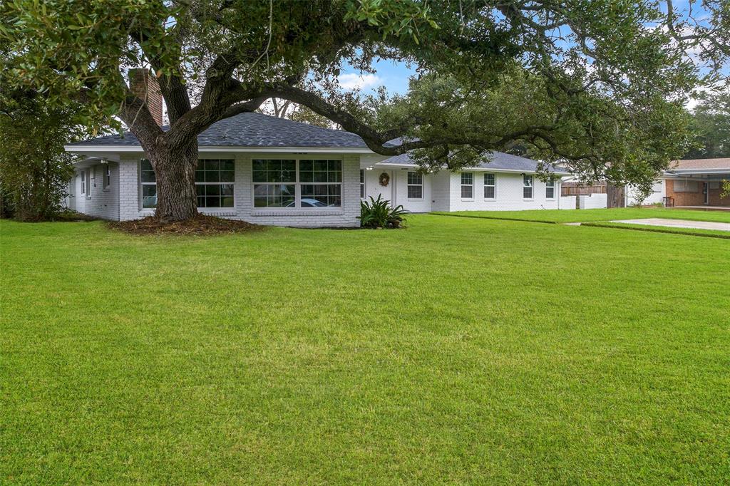
[[[255,159],[253,206],[341,207],[342,161]]]

